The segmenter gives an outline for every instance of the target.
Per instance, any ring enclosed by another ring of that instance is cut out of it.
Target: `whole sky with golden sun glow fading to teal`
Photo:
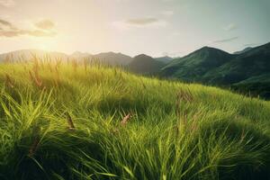
[[[0,53],[234,52],[270,41],[269,9],[269,0],[0,0]]]

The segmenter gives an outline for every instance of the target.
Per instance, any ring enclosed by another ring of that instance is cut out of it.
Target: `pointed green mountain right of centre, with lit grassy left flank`
[[[175,58],[162,68],[162,76],[181,78],[185,81],[200,80],[201,77],[216,67],[220,67],[234,55],[220,49],[203,47],[184,58]]]

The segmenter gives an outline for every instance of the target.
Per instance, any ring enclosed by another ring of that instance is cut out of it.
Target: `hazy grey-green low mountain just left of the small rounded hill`
[[[100,62],[112,66],[126,66],[133,59],[130,56],[115,52],[103,52],[93,55],[92,58],[98,59]]]

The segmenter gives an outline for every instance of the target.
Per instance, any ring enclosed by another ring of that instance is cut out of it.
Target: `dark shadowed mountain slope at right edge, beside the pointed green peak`
[[[207,72],[203,78],[212,84],[229,85],[269,72],[270,43],[267,43],[239,54],[228,63]]]

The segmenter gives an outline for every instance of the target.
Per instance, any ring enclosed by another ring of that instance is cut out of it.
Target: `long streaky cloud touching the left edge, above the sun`
[[[57,34],[55,31],[45,31],[48,26],[44,26],[44,30],[25,30],[20,29],[14,26],[13,23],[4,21],[0,19],[0,37],[12,38],[12,37],[19,37],[23,35],[33,36],[33,37],[53,37]],[[4,27],[3,27],[4,26]]]

